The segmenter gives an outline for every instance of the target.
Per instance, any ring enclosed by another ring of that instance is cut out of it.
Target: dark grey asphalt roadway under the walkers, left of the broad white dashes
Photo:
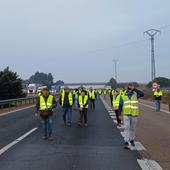
[[[100,100],[89,112],[89,126],[64,127],[62,113],[54,116],[55,140],[43,141],[41,121],[27,109],[0,118],[0,147],[34,127],[38,130],[0,155],[0,170],[140,170],[138,153],[122,148],[123,138]]]

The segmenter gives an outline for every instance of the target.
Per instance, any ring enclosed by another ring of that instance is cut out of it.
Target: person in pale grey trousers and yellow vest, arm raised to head
[[[124,117],[124,149],[129,149],[129,142],[135,146],[135,131],[140,114],[138,99],[143,97],[144,93],[136,89],[135,83],[128,85],[127,91],[120,99],[120,104],[123,105],[123,117]]]

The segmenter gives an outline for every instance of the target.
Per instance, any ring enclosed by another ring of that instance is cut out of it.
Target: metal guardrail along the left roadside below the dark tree
[[[36,99],[37,99],[36,97],[26,97],[10,100],[0,100],[0,110],[6,108],[15,108],[22,105],[35,104]]]

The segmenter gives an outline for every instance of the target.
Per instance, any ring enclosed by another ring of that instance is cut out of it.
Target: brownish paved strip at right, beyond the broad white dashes
[[[170,114],[141,106],[137,139],[146,147],[145,157],[170,169]]]

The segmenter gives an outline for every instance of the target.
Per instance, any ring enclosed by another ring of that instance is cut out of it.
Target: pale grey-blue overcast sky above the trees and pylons
[[[40,71],[65,82],[108,81],[118,58],[119,81],[146,82],[143,32],[164,27],[155,41],[157,76],[170,78],[169,16],[169,0],[1,0],[0,69],[24,79]]]

